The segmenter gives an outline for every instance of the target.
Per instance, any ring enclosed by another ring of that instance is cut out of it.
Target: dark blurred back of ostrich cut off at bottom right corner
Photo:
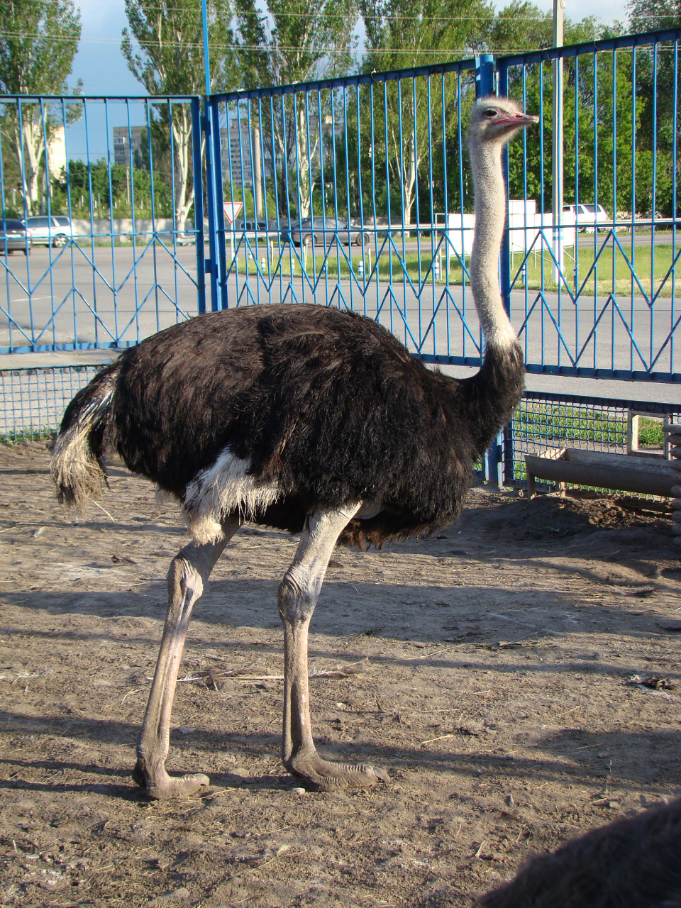
[[[681,908],[681,798],[541,854],[478,908]]]

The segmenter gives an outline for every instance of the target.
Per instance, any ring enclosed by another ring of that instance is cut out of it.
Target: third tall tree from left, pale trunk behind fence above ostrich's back
[[[357,0],[268,0],[265,15],[256,0],[235,0],[235,9],[246,87],[347,73]],[[271,111],[246,118],[246,128],[259,131],[262,114],[264,163],[271,173],[285,173],[296,202],[300,195],[301,218],[311,212],[312,184],[327,153],[325,146],[331,146],[327,123],[331,104],[331,92],[322,92],[320,105],[310,113],[304,98],[289,94],[281,97],[281,107],[273,105]],[[285,186],[282,192],[285,195]],[[285,211],[285,199],[279,200],[279,208]]]

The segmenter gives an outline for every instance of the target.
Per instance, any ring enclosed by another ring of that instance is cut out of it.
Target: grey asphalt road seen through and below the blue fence
[[[593,242],[593,237],[589,240]],[[65,344],[73,341],[74,331],[82,343],[108,343],[116,338],[135,342],[196,314],[194,248],[178,250],[176,261],[161,246],[155,250],[150,247],[143,254],[139,248],[136,252],[135,261],[131,247],[117,247],[113,256],[110,247],[95,247],[93,260],[91,251],[86,249],[83,252],[74,249],[73,255],[69,249],[53,250],[52,271],[48,267],[50,252],[44,247],[35,247],[28,262],[24,255],[15,253],[7,260],[10,271],[5,270],[0,284],[0,347],[9,346],[10,331],[15,346],[26,345],[29,339],[36,344]],[[28,306],[29,285],[33,290],[32,309]],[[380,310],[380,322],[412,351],[475,356],[479,327],[472,296],[460,287],[450,288],[448,310],[442,299],[443,291],[442,284],[434,287],[428,284],[421,293],[419,310],[410,282],[401,278],[393,283],[392,295],[385,281],[380,281],[378,286],[373,282],[366,289],[347,280],[327,283],[322,279],[311,286],[302,280],[300,273],[291,286],[288,279],[276,278],[271,286],[266,281],[254,281],[252,271],[250,281],[245,281],[242,273],[228,281],[229,297],[234,304],[291,301],[292,297],[300,302],[318,303],[331,299],[333,305],[345,304],[371,316]],[[679,356],[675,354],[672,359],[671,345],[666,343],[679,317],[678,304],[675,302],[673,310],[671,299],[660,297],[651,311],[642,297],[618,299],[618,303],[624,318],[634,325],[633,336],[640,354],[631,344],[622,318],[605,297],[597,301],[584,297],[577,307],[566,295],[558,302],[555,294],[548,294],[542,302],[538,291],[528,291],[527,296],[524,292],[514,293],[511,321],[518,331],[526,323],[521,337],[528,362],[568,366],[567,346],[573,356],[575,350],[581,350],[580,364],[587,368],[614,365],[618,369],[643,370],[643,362],[649,362],[664,347],[656,370],[679,371]],[[595,311],[601,318],[594,334]],[[465,314],[470,334],[459,312]],[[676,329],[676,334],[681,335],[681,328]],[[94,361],[109,355],[105,351],[5,355],[0,368]],[[457,367],[448,371],[465,374],[469,370]],[[528,387],[637,400],[681,401],[680,385],[648,382],[553,379],[541,375],[528,376]]]

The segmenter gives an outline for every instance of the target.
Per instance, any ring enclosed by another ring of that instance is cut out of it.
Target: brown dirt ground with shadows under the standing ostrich
[[[106,510],[76,521],[48,459],[0,446],[3,906],[470,905],[529,854],[681,793],[671,521],[479,486],[437,538],[337,550],[313,619],[311,673],[359,669],[311,680],[321,753],[390,785],[319,794],[282,771],[295,540],[245,528],[173,711],[169,769],[212,787],[147,801],[129,773],[183,529],[115,466]]]

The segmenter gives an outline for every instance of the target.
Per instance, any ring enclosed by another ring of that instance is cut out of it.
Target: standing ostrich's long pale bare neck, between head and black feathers
[[[470,255],[470,287],[487,349],[517,342],[498,291],[498,254],[506,220],[501,144],[470,143],[475,186],[475,232]]]

